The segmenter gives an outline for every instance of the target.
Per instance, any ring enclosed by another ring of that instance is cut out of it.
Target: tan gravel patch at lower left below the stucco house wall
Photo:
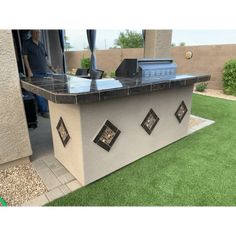
[[[8,206],[20,206],[45,192],[47,188],[31,163],[0,170],[0,197]]]

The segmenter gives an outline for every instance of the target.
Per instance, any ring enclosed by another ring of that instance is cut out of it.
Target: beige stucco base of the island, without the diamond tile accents
[[[55,157],[87,185],[187,135],[193,86],[89,104],[49,101]],[[188,109],[181,123],[175,112],[184,101]],[[149,135],[141,126],[149,110],[159,122]],[[64,147],[57,131],[62,117],[70,139]],[[109,120],[120,130],[110,151],[94,142]]]

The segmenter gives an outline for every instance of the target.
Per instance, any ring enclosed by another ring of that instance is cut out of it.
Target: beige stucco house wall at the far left
[[[0,166],[32,155],[10,30],[0,30]]]

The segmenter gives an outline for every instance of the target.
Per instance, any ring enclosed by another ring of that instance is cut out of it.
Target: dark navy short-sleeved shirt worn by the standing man
[[[49,71],[46,60],[47,53],[41,42],[37,45],[32,39],[27,40],[23,45],[23,55],[28,56],[30,69],[33,74],[47,73]]]

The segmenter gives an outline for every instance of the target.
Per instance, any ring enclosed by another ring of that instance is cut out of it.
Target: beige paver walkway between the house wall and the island
[[[48,192],[25,202],[23,206],[41,206],[80,188],[81,184],[54,157],[50,120],[38,116],[38,128],[30,129],[29,134],[33,149],[32,165]]]

